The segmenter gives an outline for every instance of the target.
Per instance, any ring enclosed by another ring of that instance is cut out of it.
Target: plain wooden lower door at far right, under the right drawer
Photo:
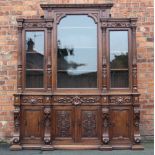
[[[129,140],[132,115],[130,108],[116,107],[110,112],[110,136],[112,140]]]

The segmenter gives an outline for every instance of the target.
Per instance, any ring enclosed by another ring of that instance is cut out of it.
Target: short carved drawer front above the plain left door
[[[43,103],[42,96],[24,96],[22,98],[22,103],[39,104]]]

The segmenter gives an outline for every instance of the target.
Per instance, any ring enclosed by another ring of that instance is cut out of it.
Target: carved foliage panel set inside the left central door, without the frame
[[[59,137],[70,137],[71,136],[71,114],[69,111],[58,111],[57,112],[57,129]]]

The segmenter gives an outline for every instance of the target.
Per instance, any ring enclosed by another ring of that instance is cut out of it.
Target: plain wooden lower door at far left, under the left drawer
[[[24,142],[40,142],[43,135],[42,107],[24,106],[21,118],[21,131]]]

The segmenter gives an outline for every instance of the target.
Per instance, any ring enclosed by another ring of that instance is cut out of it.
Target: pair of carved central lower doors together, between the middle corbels
[[[100,108],[97,106],[55,106],[53,108],[54,143],[84,143],[100,139]]]

